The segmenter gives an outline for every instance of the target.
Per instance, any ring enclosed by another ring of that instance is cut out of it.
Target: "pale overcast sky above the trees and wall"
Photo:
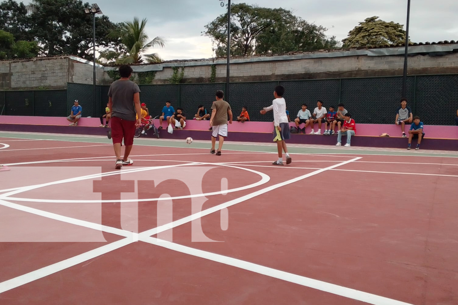
[[[85,0],[83,0],[85,1]],[[87,0],[86,0],[87,1]],[[214,56],[204,26],[223,14],[228,0],[94,0],[113,22],[147,18],[150,39],[162,36],[162,59],[200,59]],[[28,3],[29,1],[24,1]],[[370,16],[406,24],[407,0],[232,0],[232,4],[282,7],[311,23],[329,28],[328,36],[340,41]],[[412,42],[458,41],[458,0],[413,0],[410,6],[409,37]]]

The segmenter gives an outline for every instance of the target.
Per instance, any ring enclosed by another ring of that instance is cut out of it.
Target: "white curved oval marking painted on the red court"
[[[176,161],[176,160],[151,160],[151,161],[167,161],[167,162],[186,162],[186,161]],[[257,174],[258,176],[261,177],[261,180],[258,182],[243,186],[243,187],[237,187],[237,188],[232,188],[229,190],[222,190],[222,191],[217,191],[217,192],[210,192],[210,193],[202,193],[202,194],[193,194],[193,195],[185,195],[185,196],[175,196],[175,197],[166,197],[166,198],[143,198],[143,199],[122,199],[122,200],[60,200],[60,199],[33,199],[33,198],[17,198],[17,197],[10,197],[10,195],[14,194],[19,194],[23,193],[26,191],[38,189],[41,187],[47,187],[51,185],[56,185],[56,184],[62,184],[62,183],[68,183],[68,182],[75,182],[75,181],[81,181],[81,180],[87,180],[87,179],[96,179],[99,177],[104,177],[104,176],[111,176],[114,174],[128,174],[128,173],[134,173],[138,171],[151,171],[151,170],[157,170],[157,169],[163,169],[163,168],[170,168],[170,167],[176,167],[176,166],[196,166],[196,165],[206,165],[206,166],[214,166],[215,168],[218,166],[225,166],[225,167],[232,167],[236,169],[241,169],[244,171],[249,171],[252,173]],[[11,200],[11,201],[27,201],[27,202],[40,202],[40,203],[127,203],[127,202],[145,202],[145,201],[161,201],[161,200],[173,200],[173,199],[185,199],[185,198],[196,198],[196,197],[206,197],[206,196],[213,196],[213,195],[220,195],[220,194],[227,194],[227,193],[233,193],[233,192],[238,192],[238,191],[243,191],[247,190],[253,187],[258,187],[261,186],[265,183],[270,181],[270,176],[268,176],[265,173],[262,173],[260,171],[255,171],[249,168],[244,168],[244,167],[238,167],[238,166],[232,166],[229,164],[221,164],[221,163],[206,163],[206,162],[188,162],[188,163],[182,163],[178,165],[172,165],[172,166],[156,166],[156,167],[147,167],[147,168],[133,168],[131,170],[124,170],[124,171],[116,171],[116,172],[108,172],[108,173],[100,173],[100,174],[95,174],[95,175],[88,175],[88,176],[81,176],[81,177],[75,177],[75,178],[70,178],[70,179],[64,179],[64,180],[58,180],[54,182],[48,182],[44,184],[38,184],[38,185],[33,185],[33,186],[28,186],[28,187],[21,187],[15,191],[5,193],[0,195],[0,199],[2,200]]]

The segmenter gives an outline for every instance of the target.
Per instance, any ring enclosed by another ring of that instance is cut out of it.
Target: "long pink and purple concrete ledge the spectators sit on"
[[[78,126],[69,126],[65,117],[24,117],[24,116],[0,116],[0,130],[3,131],[22,131],[22,132],[49,132],[61,134],[91,134],[105,135],[108,128],[98,127],[99,118],[81,118]],[[210,122],[208,120],[196,121],[187,120],[183,130],[174,130],[169,134],[167,123],[163,122],[160,130],[160,138],[163,139],[185,139],[192,137],[195,140],[208,140],[211,132],[208,130]],[[156,127],[159,127],[159,120],[155,120]],[[289,123],[295,126],[294,123]],[[304,124],[300,124],[302,128]],[[336,128],[337,129],[337,128]],[[314,124],[315,132],[318,124]],[[405,126],[406,132],[409,126]],[[228,140],[246,142],[272,142],[273,122],[236,122],[229,124]],[[310,125],[306,128],[306,134],[292,134],[289,143],[296,144],[324,144],[335,145],[337,135],[311,135]],[[321,133],[324,132],[324,123]],[[403,148],[407,147],[407,139],[402,138],[400,127],[395,124],[358,124],[356,122],[356,135],[351,139],[352,146],[366,147],[387,147]],[[380,137],[380,134],[387,133],[390,137]],[[153,133],[142,137],[152,137]],[[345,144],[345,137],[342,139]],[[412,141],[416,145],[416,139]],[[422,140],[422,149],[431,150],[458,150],[458,127],[442,125],[425,125],[425,139]]]

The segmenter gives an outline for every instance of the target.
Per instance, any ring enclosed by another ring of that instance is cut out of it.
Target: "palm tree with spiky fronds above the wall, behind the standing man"
[[[145,60],[148,63],[160,62],[161,58],[157,53],[144,54],[149,48],[161,47],[164,48],[166,43],[163,37],[155,37],[148,42],[149,38],[145,32],[147,19],[141,22],[137,17],[134,21],[125,21],[120,24],[120,27],[109,35],[113,37],[120,37],[121,43],[127,48],[127,54],[121,56],[117,63],[120,64],[140,64]]]

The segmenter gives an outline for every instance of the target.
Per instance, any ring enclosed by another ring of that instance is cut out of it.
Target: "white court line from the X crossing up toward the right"
[[[322,173],[323,171],[327,171],[327,170],[333,169],[333,168],[338,167],[338,166],[343,166],[343,165],[345,165],[347,163],[350,163],[350,162],[353,162],[353,161],[356,161],[356,160],[359,160],[359,159],[361,159],[361,157],[356,157],[356,158],[353,158],[351,160],[347,160],[347,161],[344,161],[344,162],[341,162],[341,163],[338,163],[338,164],[334,164],[332,166],[321,168],[321,169],[319,169],[317,171],[312,171],[311,173],[308,173],[308,174],[305,174],[305,175],[302,175],[302,176],[299,176],[299,177],[295,177],[293,179],[289,179],[289,180],[284,181],[284,182],[280,182],[280,183],[277,183],[277,184],[274,184],[274,185],[271,185],[271,186],[268,186],[268,187],[264,187],[264,188],[262,188],[262,189],[260,189],[260,190],[258,190],[256,192],[253,192],[253,193],[250,193],[250,194],[246,194],[245,196],[230,200],[230,201],[225,202],[225,203],[218,204],[218,205],[216,205],[216,206],[214,206],[212,208],[208,208],[208,209],[203,210],[201,212],[186,216],[186,217],[184,217],[182,219],[178,219],[178,220],[172,221],[169,224],[161,225],[161,226],[158,226],[157,228],[154,228],[154,229],[151,229],[151,230],[147,230],[145,232],[140,233],[140,235],[142,235],[142,236],[145,236],[145,235],[147,235],[147,236],[156,235],[158,233],[161,233],[161,232],[164,232],[166,230],[172,229],[172,228],[177,227],[179,225],[183,225],[185,223],[191,222],[191,221],[193,221],[195,219],[199,219],[199,218],[201,218],[203,216],[206,216],[206,215],[215,213],[215,212],[217,212],[219,210],[228,208],[228,207],[230,207],[230,206],[232,206],[234,204],[237,204],[237,203],[243,202],[245,200],[248,200],[248,199],[257,197],[259,195],[262,195],[264,193],[270,192],[270,191],[272,191],[274,189],[277,189],[279,187],[284,187],[285,185],[304,180],[305,178],[318,175],[319,173]]]

